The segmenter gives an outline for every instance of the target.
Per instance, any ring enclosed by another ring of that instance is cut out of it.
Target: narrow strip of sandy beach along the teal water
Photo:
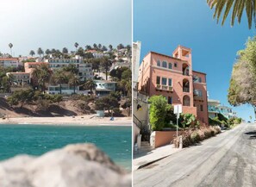
[[[132,117],[97,118],[94,115],[65,117],[16,117],[0,119],[0,124],[41,124],[41,125],[77,125],[77,126],[132,126]]]

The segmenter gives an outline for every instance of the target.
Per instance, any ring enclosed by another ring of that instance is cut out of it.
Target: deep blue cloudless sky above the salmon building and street
[[[213,19],[206,0],[135,0],[134,41],[141,41],[141,58],[155,51],[172,55],[178,44],[192,48],[193,69],[207,73],[209,98],[228,105],[228,84],[236,52],[244,48],[249,30],[244,16],[240,25],[230,27],[228,17],[222,27]],[[249,119],[253,108],[234,108]]]

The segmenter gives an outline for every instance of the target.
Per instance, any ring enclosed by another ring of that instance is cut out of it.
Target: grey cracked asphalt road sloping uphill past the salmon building
[[[241,124],[134,171],[139,186],[256,186],[256,124]]]

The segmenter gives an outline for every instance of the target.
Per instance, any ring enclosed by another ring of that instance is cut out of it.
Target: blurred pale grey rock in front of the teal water
[[[92,144],[0,162],[1,187],[130,187],[132,179]]]

